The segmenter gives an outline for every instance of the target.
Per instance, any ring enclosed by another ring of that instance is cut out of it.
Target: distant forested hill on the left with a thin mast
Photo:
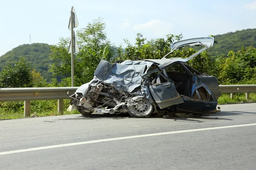
[[[51,73],[48,71],[52,60],[49,58],[50,45],[45,43],[23,44],[0,57],[0,70],[3,66],[14,65],[20,58],[28,59],[32,69],[40,71],[41,75],[49,81]]]

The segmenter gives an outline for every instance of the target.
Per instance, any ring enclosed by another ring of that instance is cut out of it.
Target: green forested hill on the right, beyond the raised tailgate
[[[242,46],[256,48],[256,28],[215,35],[214,38],[218,43],[209,49],[212,56],[227,55],[231,50],[239,51]]]

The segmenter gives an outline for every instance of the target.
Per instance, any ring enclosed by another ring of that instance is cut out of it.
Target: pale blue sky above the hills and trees
[[[0,0],[0,56],[31,43],[55,45],[70,37],[72,6],[77,31],[102,17],[107,37],[115,45],[135,42],[141,33],[150,40],[167,34],[183,39],[256,28],[256,0]]]

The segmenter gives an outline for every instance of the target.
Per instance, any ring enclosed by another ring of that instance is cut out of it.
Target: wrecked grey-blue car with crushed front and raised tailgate
[[[177,113],[203,116],[215,110],[220,96],[216,77],[201,74],[186,62],[212,47],[213,37],[180,40],[173,51],[184,46],[204,48],[187,58],[137,59],[111,64],[101,60],[94,78],[81,85],[70,104],[79,113],[129,113],[136,118],[151,114]]]

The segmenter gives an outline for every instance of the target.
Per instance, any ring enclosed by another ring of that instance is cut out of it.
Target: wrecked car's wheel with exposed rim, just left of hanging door
[[[151,105],[148,99],[143,98],[136,104],[128,107],[128,113],[135,118],[149,117],[153,112],[154,107]]]

